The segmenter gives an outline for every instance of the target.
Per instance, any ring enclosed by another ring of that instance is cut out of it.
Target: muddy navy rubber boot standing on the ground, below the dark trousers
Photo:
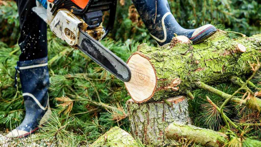
[[[49,118],[47,61],[45,57],[17,62],[16,70],[20,76],[26,114],[20,126],[7,134],[8,138],[27,137]]]

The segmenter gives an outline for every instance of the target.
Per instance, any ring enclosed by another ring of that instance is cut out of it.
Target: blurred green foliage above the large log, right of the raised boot
[[[185,28],[195,28],[212,22],[248,36],[261,31],[260,1],[170,0],[169,3],[172,13]]]

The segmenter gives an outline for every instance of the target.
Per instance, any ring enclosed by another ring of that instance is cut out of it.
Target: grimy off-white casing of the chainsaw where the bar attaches
[[[98,41],[103,38],[105,30],[102,27],[102,23],[87,29],[89,25],[79,15],[75,15],[65,8],[59,9],[56,15],[53,15],[51,12],[53,3],[48,1],[47,5],[47,23],[50,25],[51,31],[70,46],[75,46],[78,43],[80,29],[86,31]]]

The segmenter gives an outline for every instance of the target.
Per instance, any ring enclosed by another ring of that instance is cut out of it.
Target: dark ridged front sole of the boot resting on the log
[[[206,28],[205,30],[201,31],[200,33],[198,33],[197,35],[195,35],[194,37],[189,38],[189,40],[191,40],[193,42],[193,44],[197,44],[197,43],[200,43],[200,42],[203,42],[204,40],[206,40],[216,31],[217,31],[217,29],[214,26],[210,26],[210,27]]]

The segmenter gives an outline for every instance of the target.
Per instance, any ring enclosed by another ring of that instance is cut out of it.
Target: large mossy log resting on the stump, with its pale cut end
[[[252,73],[251,63],[261,59],[261,34],[231,40],[217,30],[200,44],[174,37],[168,47],[138,46],[128,59],[132,77],[125,86],[137,103],[187,94],[197,82],[218,84],[230,76]]]

